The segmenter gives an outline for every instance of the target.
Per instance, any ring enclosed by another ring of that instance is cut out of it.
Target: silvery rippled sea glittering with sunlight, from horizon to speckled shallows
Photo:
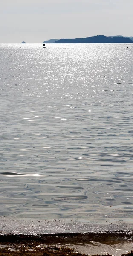
[[[0,215],[133,221],[133,44],[0,44]]]

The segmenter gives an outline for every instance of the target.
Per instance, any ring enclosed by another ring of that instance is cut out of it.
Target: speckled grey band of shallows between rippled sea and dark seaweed
[[[5,234],[55,234],[55,233],[103,233],[128,232],[133,230],[133,223],[115,221],[110,223],[87,222],[82,219],[29,219],[0,217],[0,235]]]

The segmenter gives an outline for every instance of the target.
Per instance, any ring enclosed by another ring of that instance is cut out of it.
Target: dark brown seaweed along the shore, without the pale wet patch
[[[78,253],[77,244],[90,244],[91,241],[104,242],[106,245],[124,243],[133,241],[133,232],[113,232],[113,233],[58,233],[58,234],[43,234],[43,235],[13,235],[5,234],[0,236],[0,256],[88,256],[89,250],[86,253]],[[128,246],[128,245],[127,245]],[[128,251],[128,247],[126,249]],[[129,250],[132,250],[130,247]],[[100,250],[101,251],[101,250]],[[84,252],[84,250],[83,250]],[[95,248],[91,252],[94,255]],[[98,252],[98,251],[97,251]],[[112,253],[112,251],[111,251]],[[101,253],[102,254],[102,253]],[[118,255],[118,254],[117,254]],[[111,256],[106,254],[106,256]],[[133,250],[127,254],[120,256],[133,256]]]

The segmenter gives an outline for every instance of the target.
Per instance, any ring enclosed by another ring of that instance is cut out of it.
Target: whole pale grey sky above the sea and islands
[[[133,36],[133,0],[1,0],[0,43]]]

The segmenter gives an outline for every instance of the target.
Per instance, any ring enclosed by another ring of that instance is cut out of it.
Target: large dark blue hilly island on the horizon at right
[[[133,43],[133,40],[123,36],[95,35],[87,38],[59,39],[55,43]]]

